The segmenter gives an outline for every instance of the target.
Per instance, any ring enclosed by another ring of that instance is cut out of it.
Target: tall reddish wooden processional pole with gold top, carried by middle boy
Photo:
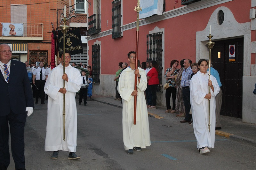
[[[134,9],[137,12],[137,22],[136,22],[136,48],[135,48],[135,69],[138,69],[138,48],[139,48],[139,13],[141,11],[140,0],[138,0],[137,6]],[[137,74],[134,78],[134,90],[137,90]],[[133,107],[133,124],[136,124],[136,112],[137,112],[137,96],[134,96],[134,107]]]

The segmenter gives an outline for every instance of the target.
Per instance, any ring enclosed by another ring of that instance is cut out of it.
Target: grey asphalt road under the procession
[[[199,154],[193,127],[164,119],[149,118],[151,146],[134,151],[124,150],[122,109],[88,101],[77,101],[78,160],[69,160],[68,152],[50,159],[52,152],[44,151],[47,105],[37,104],[25,126],[26,169],[256,169],[256,148],[241,145],[216,136],[215,148],[209,154]],[[11,158],[9,169],[14,169]]]

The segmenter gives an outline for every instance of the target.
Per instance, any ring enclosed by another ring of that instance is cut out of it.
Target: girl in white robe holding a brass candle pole
[[[215,96],[220,87],[215,77],[209,80],[208,62],[205,59],[198,61],[199,71],[190,80],[190,102],[193,116],[193,128],[199,153],[209,153],[214,148],[215,140]],[[209,93],[209,86],[211,92]],[[210,100],[210,132],[208,99]]]

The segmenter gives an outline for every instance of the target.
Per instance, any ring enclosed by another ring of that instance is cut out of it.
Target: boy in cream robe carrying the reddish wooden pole
[[[124,149],[128,154],[133,154],[133,149],[141,151],[141,148],[150,146],[150,134],[148,125],[148,110],[144,91],[147,88],[146,72],[143,69],[135,69],[135,52],[128,53],[130,66],[123,70],[119,77],[117,90],[123,99],[123,140]],[[137,90],[134,90],[134,76],[138,75]],[[134,96],[137,96],[136,125],[133,124]]]

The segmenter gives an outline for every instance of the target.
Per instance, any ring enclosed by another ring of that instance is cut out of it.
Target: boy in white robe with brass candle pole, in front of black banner
[[[72,67],[70,52],[65,51],[65,73],[63,74],[63,51],[60,52],[62,63],[52,69],[44,91],[48,97],[45,151],[53,151],[51,159],[57,159],[59,150],[69,151],[68,159],[79,159],[76,152],[76,92],[81,88],[81,74]],[[65,89],[63,88],[65,80]],[[63,140],[63,94],[65,93],[65,141]]]

